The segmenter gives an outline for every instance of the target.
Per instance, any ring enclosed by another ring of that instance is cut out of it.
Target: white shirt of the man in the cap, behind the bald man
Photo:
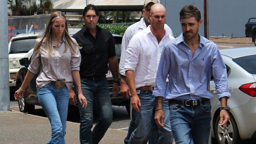
[[[125,76],[125,70],[124,70],[124,64],[125,64],[125,59],[126,59],[126,49],[128,47],[128,44],[132,37],[138,33],[139,31],[142,31],[143,29],[147,28],[144,18],[141,18],[139,22],[136,22],[135,24],[132,24],[129,26],[125,33],[124,36],[122,37],[122,46],[121,46],[121,57],[120,57],[120,63],[119,63],[119,73],[123,76]],[[165,30],[167,33],[171,33],[173,36],[173,31],[171,28],[165,24]]]

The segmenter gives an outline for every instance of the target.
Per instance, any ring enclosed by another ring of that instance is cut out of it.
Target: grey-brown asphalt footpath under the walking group
[[[67,144],[79,144],[79,123],[67,122]],[[100,144],[121,144],[127,131],[108,129]],[[44,144],[51,137],[48,118],[18,111],[0,112],[0,144]]]

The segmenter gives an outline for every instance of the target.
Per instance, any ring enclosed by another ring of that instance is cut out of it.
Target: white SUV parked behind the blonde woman
[[[38,33],[20,33],[11,38],[8,45],[9,52],[9,87],[16,86],[16,74],[23,66],[20,65],[19,60],[27,54],[35,45],[35,39]]]

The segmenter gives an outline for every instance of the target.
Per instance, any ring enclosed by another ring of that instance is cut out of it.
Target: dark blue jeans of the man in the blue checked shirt
[[[210,101],[197,106],[170,104],[170,120],[176,144],[208,144]]]

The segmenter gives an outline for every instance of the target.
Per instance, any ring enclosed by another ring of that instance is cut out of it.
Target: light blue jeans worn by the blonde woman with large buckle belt
[[[43,107],[52,127],[52,137],[46,144],[65,144],[69,91],[67,87],[56,89],[45,85],[37,91],[40,105]]]

